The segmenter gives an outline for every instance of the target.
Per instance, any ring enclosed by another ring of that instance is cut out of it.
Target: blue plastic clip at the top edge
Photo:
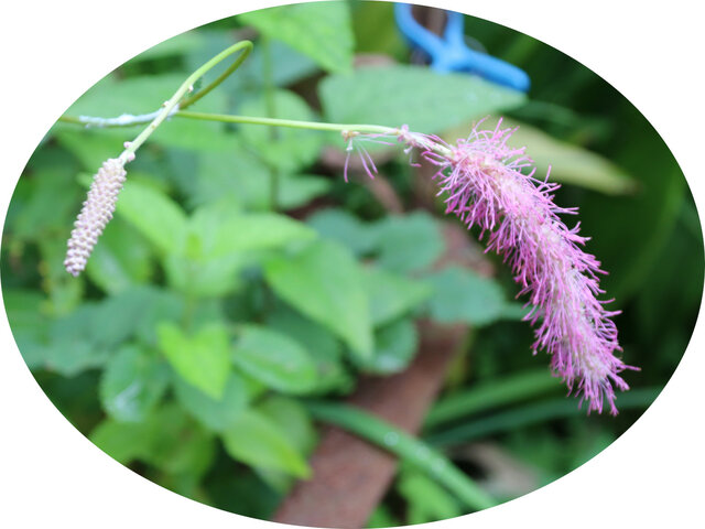
[[[431,67],[436,72],[467,72],[516,90],[529,89],[531,80],[523,69],[467,47],[463,14],[455,11],[446,11],[446,14],[447,23],[441,39],[416,22],[410,4],[394,4],[399,30],[412,44],[430,55]]]

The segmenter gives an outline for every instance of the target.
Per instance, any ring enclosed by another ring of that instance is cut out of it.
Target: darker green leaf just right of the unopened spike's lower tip
[[[150,247],[121,218],[113,218],[88,259],[86,273],[109,294],[144,283],[152,274]]]

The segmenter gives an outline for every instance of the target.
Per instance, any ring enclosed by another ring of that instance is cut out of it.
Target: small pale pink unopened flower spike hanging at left
[[[112,218],[118,194],[127,173],[121,160],[106,160],[94,176],[88,196],[78,214],[68,240],[64,267],[77,277],[85,268],[98,237]]]

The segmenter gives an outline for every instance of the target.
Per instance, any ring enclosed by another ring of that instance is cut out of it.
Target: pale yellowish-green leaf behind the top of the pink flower
[[[497,120],[484,123],[484,128],[494,129]],[[551,170],[550,180],[565,184],[579,185],[608,195],[632,193],[637,183],[625,171],[609,160],[565,141],[560,141],[545,132],[525,123],[502,119],[502,127],[518,129],[511,134],[509,145],[527,148],[533,159],[536,174],[541,177]],[[467,137],[469,127],[446,131],[443,137],[454,143],[458,138]]]

